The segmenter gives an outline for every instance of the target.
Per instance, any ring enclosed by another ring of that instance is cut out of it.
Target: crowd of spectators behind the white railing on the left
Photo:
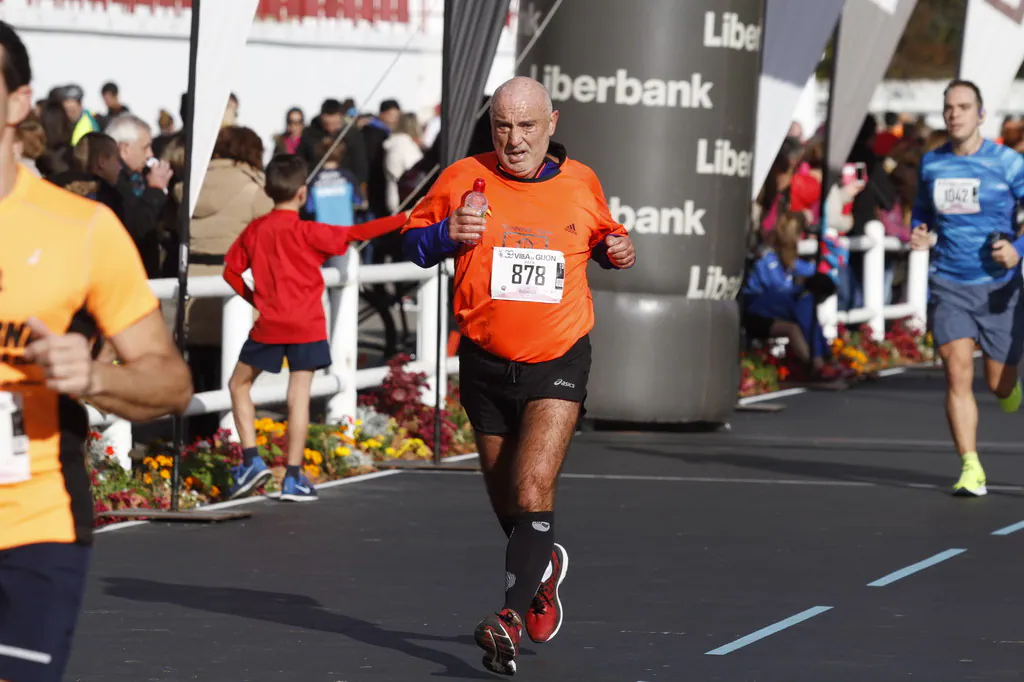
[[[50,90],[16,130],[15,153],[30,172],[72,193],[108,206],[121,219],[151,279],[177,276],[179,207],[184,201],[185,141],[174,117],[161,111],[157,129],[122,102],[117,84],[101,89],[105,113],[83,105],[78,85]],[[179,108],[185,119],[186,99]],[[224,110],[189,225],[189,272],[220,275],[224,254],[253,219],[273,203],[264,191],[264,141],[239,124],[240,102],[231,94]],[[273,154],[301,157],[312,172],[303,217],[337,225],[393,215],[408,190],[399,181],[414,167],[432,165],[436,121],[421,125],[394,99],[374,114],[352,99],[326,99],[309,121],[289,110],[284,130],[268,140]],[[339,135],[348,127],[341,139]],[[429,169],[428,169],[429,170]],[[422,175],[422,171],[421,171]],[[401,259],[397,236],[366,245],[371,262]],[[173,319],[173,305],[164,305]],[[190,299],[186,306],[188,359],[196,390],[221,385],[221,305]],[[216,429],[216,416],[199,420],[199,432]]]

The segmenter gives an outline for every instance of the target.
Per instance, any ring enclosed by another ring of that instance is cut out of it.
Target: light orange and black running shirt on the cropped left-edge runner
[[[110,338],[158,302],[110,209],[25,169],[0,201],[0,549],[85,543],[92,529],[88,417],[46,388],[39,366],[26,364],[25,322],[35,316],[63,334],[78,313]]]

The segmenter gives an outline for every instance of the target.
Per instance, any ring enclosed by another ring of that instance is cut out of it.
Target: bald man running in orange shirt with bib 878
[[[535,642],[562,622],[568,556],[554,544],[553,510],[590,375],[587,261],[626,268],[635,260],[594,172],[551,142],[557,122],[544,86],[506,82],[490,102],[495,152],[444,170],[404,228],[407,254],[421,266],[456,257],[462,401],[508,537],[505,605],[475,636],[484,666],[506,675],[516,671],[524,615]],[[489,218],[463,206],[477,178]]]

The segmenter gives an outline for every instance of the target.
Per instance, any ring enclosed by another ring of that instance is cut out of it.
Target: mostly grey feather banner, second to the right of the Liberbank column
[[[848,0],[839,29],[826,186],[839,178],[918,0]]]

